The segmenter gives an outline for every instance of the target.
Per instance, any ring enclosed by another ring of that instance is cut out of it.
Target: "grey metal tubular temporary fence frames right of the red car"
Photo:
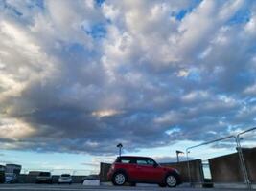
[[[226,139],[234,138],[236,146],[237,146],[236,150],[237,150],[237,153],[238,153],[238,156],[239,156],[239,164],[240,164],[241,170],[243,172],[244,183],[247,185],[248,189],[251,189],[252,188],[251,187],[251,182],[249,180],[248,169],[246,168],[245,161],[244,161],[244,153],[243,153],[243,149],[241,147],[241,140],[243,139],[242,138],[243,135],[248,134],[248,133],[250,133],[252,131],[255,131],[255,130],[256,130],[256,127],[248,129],[248,130],[246,130],[244,132],[241,132],[241,133],[239,133],[236,136],[228,136],[228,137],[224,137],[224,138],[218,138],[218,139],[215,139],[215,140],[212,140],[212,141],[207,141],[207,142],[203,142],[203,143],[198,144],[198,145],[194,145],[194,146],[188,147],[186,149],[186,157],[187,157],[187,168],[188,168],[188,172],[189,172],[189,177],[190,177],[189,180],[190,180],[191,186],[194,185],[194,183],[195,183],[195,182],[192,182],[191,175],[190,175],[189,153],[191,152],[191,150],[195,149],[195,148],[198,148],[198,147],[201,147],[203,145],[209,145],[211,143],[220,142],[221,140],[226,140]],[[197,183],[203,184],[204,182],[197,182]]]

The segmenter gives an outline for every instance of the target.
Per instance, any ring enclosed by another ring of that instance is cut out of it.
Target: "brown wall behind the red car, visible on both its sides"
[[[191,172],[192,182],[202,182],[204,178],[203,178],[201,160],[196,159],[196,160],[191,160],[189,162],[190,162],[190,172]],[[183,182],[189,182],[188,163],[186,161],[178,162],[178,163],[164,163],[161,165],[176,168],[180,172]],[[101,182],[107,181],[106,175],[110,166],[111,164],[101,163],[101,171],[100,171]]]

